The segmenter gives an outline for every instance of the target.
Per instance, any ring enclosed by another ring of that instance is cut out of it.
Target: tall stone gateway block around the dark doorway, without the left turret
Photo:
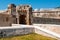
[[[17,23],[18,24],[32,24],[32,7],[30,5],[20,5],[17,7]]]

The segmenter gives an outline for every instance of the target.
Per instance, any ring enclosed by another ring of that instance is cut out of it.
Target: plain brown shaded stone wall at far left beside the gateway
[[[12,17],[8,14],[0,14],[0,27],[11,26]]]

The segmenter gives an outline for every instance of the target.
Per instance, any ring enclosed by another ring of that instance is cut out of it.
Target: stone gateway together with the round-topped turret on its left
[[[12,15],[13,24],[32,24],[32,7],[30,5],[8,6],[9,13]]]

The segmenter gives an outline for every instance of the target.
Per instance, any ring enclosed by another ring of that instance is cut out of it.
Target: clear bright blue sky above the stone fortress
[[[0,10],[7,9],[8,4],[30,4],[35,8],[55,8],[60,6],[60,0],[0,0]]]

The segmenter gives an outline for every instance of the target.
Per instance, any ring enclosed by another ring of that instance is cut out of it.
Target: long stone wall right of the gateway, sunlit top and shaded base
[[[35,9],[33,11],[33,23],[36,24],[60,24],[60,9]]]

